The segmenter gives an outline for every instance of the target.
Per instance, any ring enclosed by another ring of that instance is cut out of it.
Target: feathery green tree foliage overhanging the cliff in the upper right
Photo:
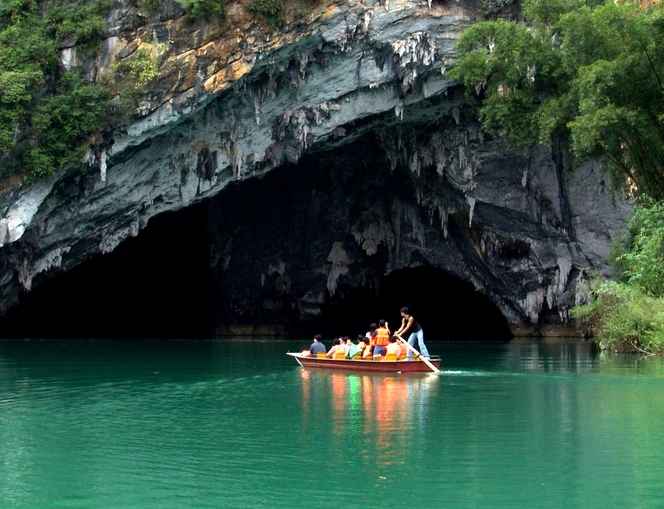
[[[664,3],[526,0],[527,25],[479,23],[451,70],[513,147],[567,144],[664,198]]]

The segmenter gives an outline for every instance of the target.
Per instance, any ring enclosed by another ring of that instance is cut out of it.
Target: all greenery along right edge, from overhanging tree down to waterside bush
[[[618,280],[594,280],[573,316],[604,348],[664,352],[664,3],[527,0],[523,14],[471,27],[451,72],[489,132],[603,158],[642,195],[612,257]]]

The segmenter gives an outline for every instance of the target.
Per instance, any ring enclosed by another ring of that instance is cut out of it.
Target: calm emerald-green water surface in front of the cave
[[[664,507],[662,359],[436,344],[440,376],[308,342],[0,342],[1,508]]]

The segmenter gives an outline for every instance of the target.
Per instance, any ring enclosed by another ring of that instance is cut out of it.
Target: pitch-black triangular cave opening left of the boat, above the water
[[[211,329],[207,209],[150,220],[138,237],[19,297],[3,338],[205,338]]]

